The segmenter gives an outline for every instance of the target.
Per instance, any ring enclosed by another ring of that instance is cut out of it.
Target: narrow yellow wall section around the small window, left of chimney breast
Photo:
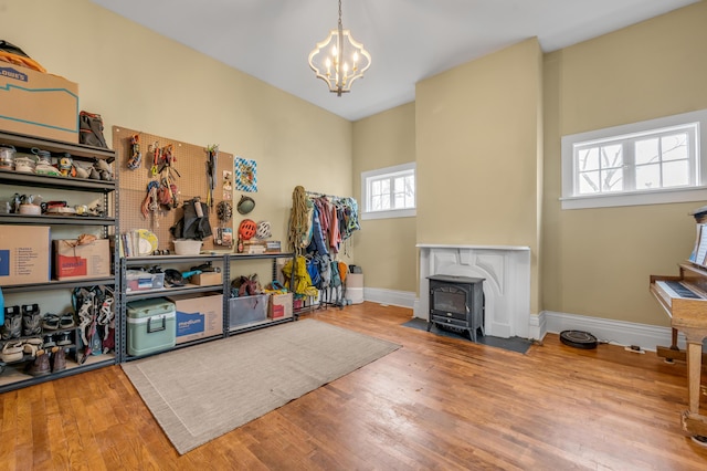
[[[354,193],[361,201],[361,171],[415,161],[415,106],[398,106],[354,124]],[[362,202],[359,202],[361,205]],[[416,218],[361,221],[354,237],[366,286],[414,292]]]

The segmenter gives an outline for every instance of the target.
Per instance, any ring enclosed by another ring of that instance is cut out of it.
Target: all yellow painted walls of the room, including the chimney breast
[[[0,19],[108,140],[120,125],[255,159],[251,216],[283,241],[296,185],[360,199],[361,171],[416,159],[418,217],[354,236],[367,286],[416,291],[415,243],[528,245],[532,312],[667,325],[648,275],[676,273],[704,202],[562,211],[560,137],[707,108],[705,1],[545,56],[520,42],[354,124],[87,0],[6,0]]]

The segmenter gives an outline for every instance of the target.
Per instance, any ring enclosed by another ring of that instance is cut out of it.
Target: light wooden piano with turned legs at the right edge
[[[657,355],[687,360],[689,409],[683,412],[683,430],[707,437],[707,416],[699,414],[703,341],[707,337],[707,266],[679,264],[679,276],[651,275],[651,293],[671,316],[671,347],[656,348]],[[677,347],[677,333],[687,342],[687,354]]]

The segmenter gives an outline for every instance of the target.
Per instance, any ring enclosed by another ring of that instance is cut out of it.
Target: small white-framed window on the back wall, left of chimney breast
[[[361,219],[415,216],[415,164],[361,172]]]

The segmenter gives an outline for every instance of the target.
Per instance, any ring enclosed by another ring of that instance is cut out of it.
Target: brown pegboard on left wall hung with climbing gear
[[[138,168],[128,168],[128,160],[133,156],[133,146],[130,138],[134,135],[139,136],[140,151],[143,160]],[[172,237],[169,228],[182,217],[181,206],[184,201],[194,197],[200,197],[202,202],[208,202],[209,180],[207,177],[209,154],[207,146],[213,143],[205,143],[203,146],[182,143],[167,137],[156,136],[149,133],[129,129],[120,126],[113,126],[113,148],[116,151],[116,168],[119,168],[120,178],[120,201],[119,201],[119,221],[120,232],[129,232],[137,229],[147,229],[155,233],[158,239],[159,250],[173,250],[171,243]],[[143,203],[147,196],[148,184],[155,178],[152,176],[154,165],[154,147],[167,148],[172,146],[173,164],[172,172],[173,182],[178,188],[178,208],[158,211],[149,211],[147,217],[143,214]],[[232,203],[233,190],[232,184],[225,181],[229,172],[229,181],[233,181],[233,155],[219,151],[217,161],[217,181],[213,190],[213,199],[209,209],[209,222],[212,232],[215,234],[219,227],[217,217],[217,205],[220,201],[229,200]],[[225,181],[225,185],[224,185]],[[226,227],[231,227],[232,222],[228,222]],[[217,249],[228,249],[225,247],[215,245]],[[213,236],[208,237],[203,241],[203,249],[214,249]]]

